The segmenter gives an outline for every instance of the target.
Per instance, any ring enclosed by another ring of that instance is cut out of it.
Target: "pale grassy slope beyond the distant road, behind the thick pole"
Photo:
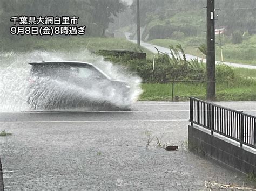
[[[224,61],[256,66],[256,35],[251,36],[240,44],[232,44],[229,38],[225,37],[224,45],[222,46]],[[216,37],[216,43],[218,43],[218,40],[219,38]],[[198,46],[204,42],[205,39],[200,37],[194,37],[194,39],[193,37],[186,37],[180,40],[154,39],[149,41],[151,44],[166,48],[169,48],[170,45],[181,44],[185,53],[199,57],[202,57],[202,54],[198,50]],[[216,60],[221,60],[219,45],[216,45]]]

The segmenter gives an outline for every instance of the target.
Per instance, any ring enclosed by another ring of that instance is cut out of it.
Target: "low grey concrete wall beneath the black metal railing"
[[[188,125],[188,148],[244,173],[256,173],[256,151],[199,126]]]

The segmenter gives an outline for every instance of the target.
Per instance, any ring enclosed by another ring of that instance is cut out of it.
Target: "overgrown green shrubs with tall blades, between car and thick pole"
[[[169,55],[158,51],[154,70],[152,70],[153,59],[130,60],[125,56],[119,58],[107,56],[105,59],[126,66],[131,71],[136,72],[144,81],[205,80],[205,68],[196,66],[201,66],[201,63],[191,65],[190,62],[186,61],[181,45],[170,46],[170,52],[171,58]],[[181,52],[181,55],[179,52]]]

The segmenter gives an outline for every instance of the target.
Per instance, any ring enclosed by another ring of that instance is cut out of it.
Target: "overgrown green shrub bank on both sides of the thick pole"
[[[108,56],[106,59],[124,65],[132,72],[136,72],[143,81],[172,81],[172,80],[199,80],[206,81],[206,64],[197,59],[187,61],[181,45],[170,46],[171,57],[158,51],[155,60],[154,71],[153,59],[130,60],[129,56],[116,58]],[[181,54],[180,54],[181,53]],[[228,87],[230,85],[247,86],[255,83],[253,79],[247,79],[235,73],[234,68],[219,64],[215,67],[216,82]]]

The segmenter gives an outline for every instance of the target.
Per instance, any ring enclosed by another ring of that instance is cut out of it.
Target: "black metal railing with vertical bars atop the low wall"
[[[190,97],[190,122],[256,148],[255,116]]]

